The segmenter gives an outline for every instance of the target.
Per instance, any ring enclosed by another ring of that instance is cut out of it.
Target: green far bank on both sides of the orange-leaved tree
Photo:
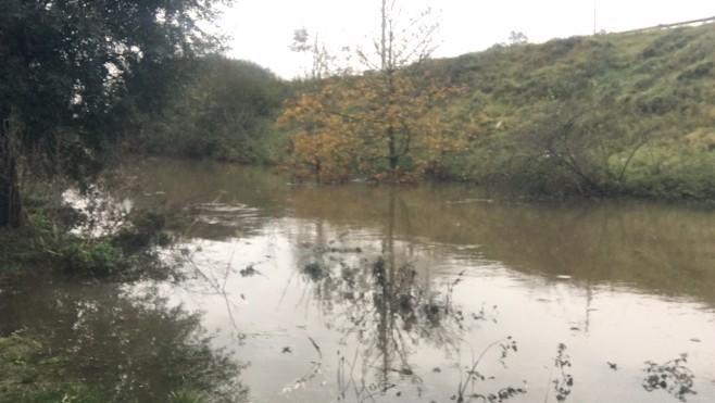
[[[147,118],[151,125],[137,148],[285,162],[296,135],[275,124],[291,104],[285,98],[329,83],[361,97],[356,89],[375,78],[366,73],[286,83],[252,63],[221,58],[206,60],[199,72],[164,116]],[[713,23],[498,45],[428,60],[402,74],[461,89],[441,104],[439,119],[448,122],[442,133],[461,136],[454,143],[469,131],[468,147],[443,152],[444,161],[429,172],[435,177],[536,198],[715,201]],[[452,123],[466,128],[448,127]]]

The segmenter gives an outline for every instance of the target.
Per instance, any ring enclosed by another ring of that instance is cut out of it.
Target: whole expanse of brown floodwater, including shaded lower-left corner
[[[187,278],[35,282],[0,303],[0,330],[57,328],[117,395],[165,396],[200,352],[252,402],[715,401],[713,211],[128,173],[135,207],[193,221],[173,252]]]

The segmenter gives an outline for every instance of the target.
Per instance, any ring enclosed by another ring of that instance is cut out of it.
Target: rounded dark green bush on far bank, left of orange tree
[[[275,162],[279,135],[273,121],[288,86],[253,63],[211,56],[133,147],[150,153],[240,163]],[[133,140],[134,141],[134,140]]]

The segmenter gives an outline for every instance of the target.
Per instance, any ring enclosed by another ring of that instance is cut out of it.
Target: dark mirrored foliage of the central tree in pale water
[[[339,395],[344,399],[352,391],[368,399],[405,380],[421,386],[409,360],[417,345],[459,348],[464,317],[451,304],[452,288],[437,292],[419,285],[411,264],[394,266],[378,256],[351,265],[340,254],[344,253],[329,252],[322,263],[303,266],[323,314],[343,335],[340,342],[354,338],[359,345],[354,354],[339,352]],[[373,369],[374,378],[368,375]]]

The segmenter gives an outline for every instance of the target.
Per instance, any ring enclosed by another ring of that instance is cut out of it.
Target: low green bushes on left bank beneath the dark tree
[[[0,275],[43,267],[78,276],[134,279],[171,274],[156,252],[172,242],[164,210],[116,207],[114,199],[93,189],[84,209],[48,194],[29,196],[28,223],[0,230]]]

